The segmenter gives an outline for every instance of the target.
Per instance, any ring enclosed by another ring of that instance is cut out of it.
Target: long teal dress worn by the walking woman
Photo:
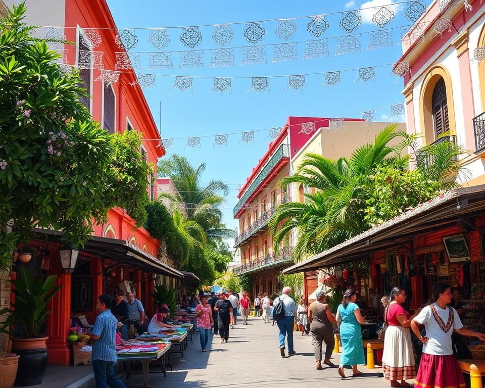
[[[340,340],[344,351],[340,359],[341,365],[364,364],[364,346],[359,322],[355,317],[355,310],[359,309],[355,303],[349,303],[347,308],[338,306],[342,318],[340,324]]]

